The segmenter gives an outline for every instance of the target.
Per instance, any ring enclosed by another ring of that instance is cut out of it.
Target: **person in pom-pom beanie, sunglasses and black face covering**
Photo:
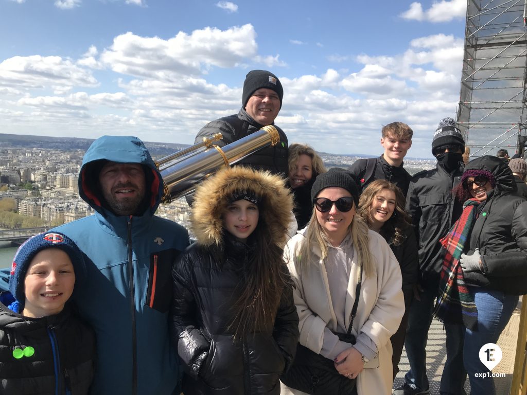
[[[419,249],[419,280],[408,311],[405,348],[410,364],[405,382],[394,395],[425,394],[430,390],[426,377],[426,339],[432,310],[438,295],[445,250],[439,241],[460,218],[463,202],[452,190],[461,182],[465,142],[452,118],[443,118],[432,139],[435,169],[415,174],[410,181],[406,211],[412,216]],[[441,394],[464,395],[466,371],[463,367],[463,325],[445,323],[446,362],[441,377]]]

